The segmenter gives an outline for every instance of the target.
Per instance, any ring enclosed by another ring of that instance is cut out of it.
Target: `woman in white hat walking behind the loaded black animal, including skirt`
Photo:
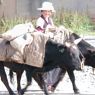
[[[53,4],[51,2],[43,2],[42,7],[38,8],[41,11],[41,16],[37,19],[36,29],[38,32],[54,31],[56,27],[54,26],[53,20],[51,18],[52,14],[55,12]],[[60,68],[53,69],[44,74],[44,80],[48,86],[48,90],[54,90],[53,85],[59,81],[57,80],[60,73]]]

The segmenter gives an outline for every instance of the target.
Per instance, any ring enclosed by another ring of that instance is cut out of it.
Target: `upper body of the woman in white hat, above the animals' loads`
[[[51,2],[43,2],[42,7],[38,8],[41,11],[41,16],[37,19],[36,29],[40,32],[51,31],[55,29],[52,14],[55,12]]]

